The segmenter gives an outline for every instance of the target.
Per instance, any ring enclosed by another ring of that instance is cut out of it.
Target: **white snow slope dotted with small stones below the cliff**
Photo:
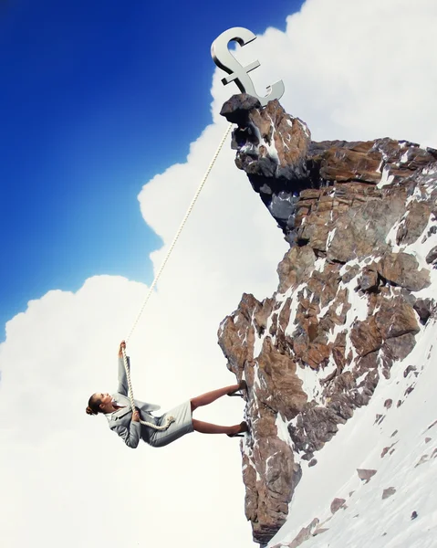
[[[315,454],[317,465],[303,470],[289,518],[268,546],[287,546],[314,518],[318,525],[305,548],[437,546],[436,328],[428,321],[410,355],[392,366],[390,379],[381,376],[369,406],[356,410]],[[416,371],[407,372],[410,365]],[[376,474],[363,481],[357,469]],[[389,488],[396,491],[383,500]],[[346,502],[333,515],[335,498]],[[313,536],[317,528],[326,531]]]

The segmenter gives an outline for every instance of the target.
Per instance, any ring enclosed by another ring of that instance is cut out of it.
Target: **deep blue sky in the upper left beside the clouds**
[[[0,340],[47,290],[96,274],[151,281],[160,240],[137,195],[210,121],[211,42],[231,26],[283,29],[300,5],[2,5]]]

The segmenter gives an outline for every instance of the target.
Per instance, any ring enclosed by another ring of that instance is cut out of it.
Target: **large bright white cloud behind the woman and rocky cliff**
[[[307,121],[316,140],[389,135],[435,145],[436,19],[433,0],[383,7],[308,0],[286,33],[269,28],[237,56],[259,58],[251,75],[260,94],[284,79],[286,110]],[[222,76],[213,77],[214,123],[192,143],[187,163],[154,177],[139,196],[165,242],[152,254],[155,268],[224,132],[217,112],[235,88],[224,88]],[[275,290],[285,249],[226,143],[131,338],[136,395],[168,408],[234,382],[216,343],[218,324],[244,291],[264,298]],[[103,417],[84,413],[90,393],[115,389],[114,352],[146,291],[95,277],[76,294],[50,291],[7,324],[2,545],[251,545],[236,440],[192,434],[167,448],[130,451]],[[241,402],[224,399],[198,416],[239,422]]]

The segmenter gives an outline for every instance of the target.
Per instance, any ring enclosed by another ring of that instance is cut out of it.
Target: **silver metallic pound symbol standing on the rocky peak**
[[[238,42],[240,46],[245,46],[246,44],[253,42],[255,38],[256,35],[243,26],[228,28],[228,30],[225,30],[213,41],[211,55],[213,57],[213,62],[217,67],[222,68],[222,70],[229,74],[229,76],[222,79],[224,86],[235,80],[235,84],[242,93],[247,93],[248,95],[256,97],[261,105],[265,107],[269,100],[280,99],[284,95],[284,82],[279,80],[275,82],[273,86],[268,86],[267,95],[265,97],[260,97],[255,91],[254,82],[247,74],[260,66],[259,61],[256,60],[247,65],[247,67],[243,67],[228,49],[229,42],[235,41]]]

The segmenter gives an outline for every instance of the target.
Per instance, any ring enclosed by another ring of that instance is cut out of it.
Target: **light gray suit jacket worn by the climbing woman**
[[[130,358],[128,357],[128,366],[130,368]],[[116,400],[119,406],[124,406],[110,416],[107,416],[109,428],[116,432],[128,446],[128,448],[136,448],[141,437],[141,423],[132,420],[132,410],[130,408],[130,399],[128,397],[128,380],[124,369],[123,358],[119,357],[119,388],[112,397]],[[150,415],[150,411],[160,409],[160,406],[148,404],[135,400],[135,406],[140,409],[140,416],[143,420],[154,423],[154,417]]]

